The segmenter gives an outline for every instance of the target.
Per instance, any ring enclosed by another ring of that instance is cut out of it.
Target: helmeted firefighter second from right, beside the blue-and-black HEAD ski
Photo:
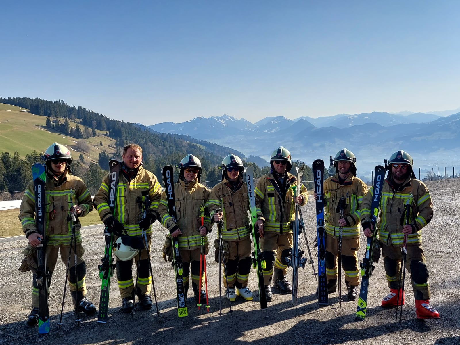
[[[345,273],[348,298],[354,301],[359,285],[357,251],[359,250],[359,222],[361,203],[368,192],[367,185],[356,177],[356,157],[348,149],[342,149],[331,157],[335,175],[324,181],[326,205],[324,222],[326,225],[326,273],[328,293],[337,290],[337,257],[339,255],[339,232],[342,228],[342,268]],[[316,200],[316,193],[314,194]],[[343,218],[340,218],[340,209]]]

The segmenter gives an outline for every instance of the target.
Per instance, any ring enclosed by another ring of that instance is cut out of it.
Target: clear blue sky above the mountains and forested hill
[[[460,1],[5,1],[0,96],[152,125],[460,106]]]

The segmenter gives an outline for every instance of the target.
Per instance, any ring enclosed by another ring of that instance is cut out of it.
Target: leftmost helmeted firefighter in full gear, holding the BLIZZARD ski
[[[71,175],[70,164],[72,158],[70,151],[64,145],[54,143],[45,152],[46,160],[46,263],[49,271],[47,286],[51,284],[51,277],[56,267],[57,255],[60,251],[61,260],[67,265],[69,255],[75,256],[74,248],[70,248],[72,237],[72,224],[69,213],[76,211],[78,217],[84,217],[92,211],[91,195],[81,178]],[[73,207],[73,208],[72,208]],[[27,325],[34,327],[38,324],[39,296],[35,282],[37,253],[35,247],[40,244],[41,235],[35,226],[35,190],[34,182],[30,182],[24,193],[23,201],[19,207],[19,220],[23,231],[29,240],[24,250],[26,256],[20,270],[32,270],[34,276],[32,288],[32,311],[28,317]],[[85,250],[81,245],[81,224],[76,224],[76,260],[77,282],[75,282],[75,266],[69,267],[69,288],[72,295],[75,311],[77,308],[87,315],[96,312],[96,307],[86,299],[86,264],[82,259]],[[49,294],[49,291],[48,291]]]

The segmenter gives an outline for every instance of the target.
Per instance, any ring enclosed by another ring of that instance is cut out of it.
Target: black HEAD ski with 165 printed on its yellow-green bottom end
[[[176,199],[174,198],[174,168],[170,165],[163,167],[163,181],[165,183],[168,213],[177,223]],[[187,300],[185,299],[184,280],[182,278],[183,262],[179,252],[178,237],[171,236],[173,245],[173,266],[176,273],[177,312],[178,316],[188,316]]]

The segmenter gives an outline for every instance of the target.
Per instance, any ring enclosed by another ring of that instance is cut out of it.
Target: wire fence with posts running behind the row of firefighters
[[[449,170],[447,167],[437,167],[436,168],[417,168],[414,169],[415,176],[422,181],[433,181],[439,179],[447,179],[447,178],[460,178],[459,173],[455,173],[455,167],[452,167],[452,174],[450,174],[450,167]],[[330,176],[334,176],[332,173],[324,174],[324,178],[328,178]],[[357,177],[361,178],[366,184],[371,186],[374,183],[374,172],[357,172]],[[260,177],[254,178],[254,183],[257,184],[257,181]],[[218,184],[221,180],[203,180],[201,181],[202,184],[207,186],[208,188],[212,188],[214,185]],[[313,180],[304,180],[302,183],[305,185],[307,189],[313,189]],[[164,189],[164,184],[160,182],[161,188]],[[100,186],[91,186],[88,187],[88,190],[92,196],[94,196]],[[22,200],[24,196],[24,190],[17,190],[13,192],[0,192],[0,201],[10,201],[10,200]]]

